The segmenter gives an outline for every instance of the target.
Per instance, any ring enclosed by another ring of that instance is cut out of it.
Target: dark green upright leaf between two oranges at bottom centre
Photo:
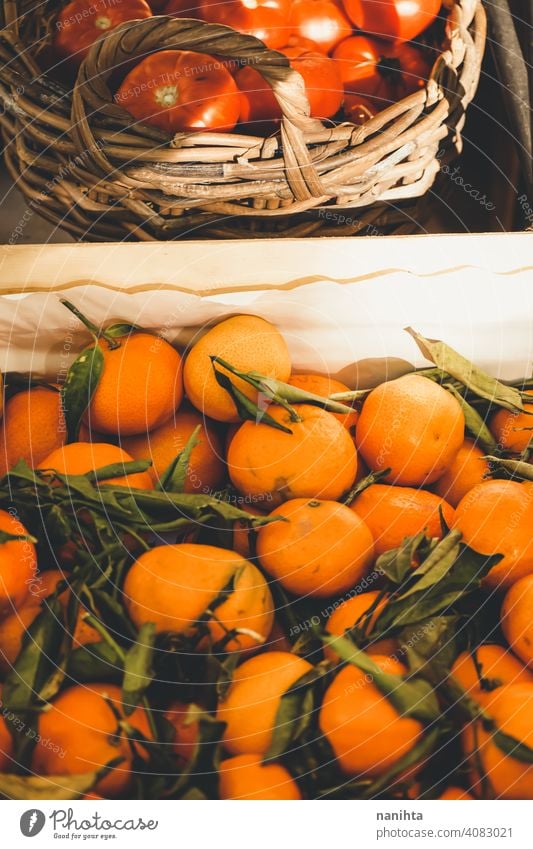
[[[300,676],[283,694],[276,712],[272,740],[263,757],[263,763],[280,758],[287,749],[297,744],[310,727],[315,703],[315,686],[325,673],[325,666],[318,665]]]

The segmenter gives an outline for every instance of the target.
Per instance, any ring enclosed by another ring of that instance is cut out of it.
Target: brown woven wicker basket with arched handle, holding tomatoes
[[[398,208],[423,196],[441,163],[461,149],[485,43],[479,0],[452,2],[446,49],[424,89],[360,127],[325,126],[309,117],[303,81],[285,56],[189,19],[117,27],[93,45],[69,92],[41,70],[57,5],[27,2],[4,2],[7,167],[36,212],[92,241],[391,233],[399,220],[405,232]],[[279,133],[169,138],[134,123],[107,82],[117,65],[164,48],[253,64],[280,103]]]

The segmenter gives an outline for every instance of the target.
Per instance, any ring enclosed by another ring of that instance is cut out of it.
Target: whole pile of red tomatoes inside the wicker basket
[[[303,78],[311,117],[364,123],[425,86],[435,52],[420,37],[440,7],[440,0],[73,0],[56,20],[54,62],[72,76],[92,44],[125,21],[196,18],[284,54]],[[127,73],[118,69],[117,79],[116,102],[170,134],[237,125],[267,134],[282,115],[253,63],[160,50]]]

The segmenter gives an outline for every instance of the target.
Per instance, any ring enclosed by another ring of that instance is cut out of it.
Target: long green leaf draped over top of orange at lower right
[[[370,675],[372,683],[394,705],[400,716],[411,716],[425,724],[439,719],[439,703],[433,687],[427,681],[422,678],[406,681],[401,675],[383,672],[371,657],[347,637],[324,635],[322,640],[331,646],[341,660]]]

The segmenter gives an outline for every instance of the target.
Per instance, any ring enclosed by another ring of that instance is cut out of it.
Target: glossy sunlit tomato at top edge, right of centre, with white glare
[[[290,23],[297,35],[310,38],[324,53],[352,34],[338,0],[294,0]]]

